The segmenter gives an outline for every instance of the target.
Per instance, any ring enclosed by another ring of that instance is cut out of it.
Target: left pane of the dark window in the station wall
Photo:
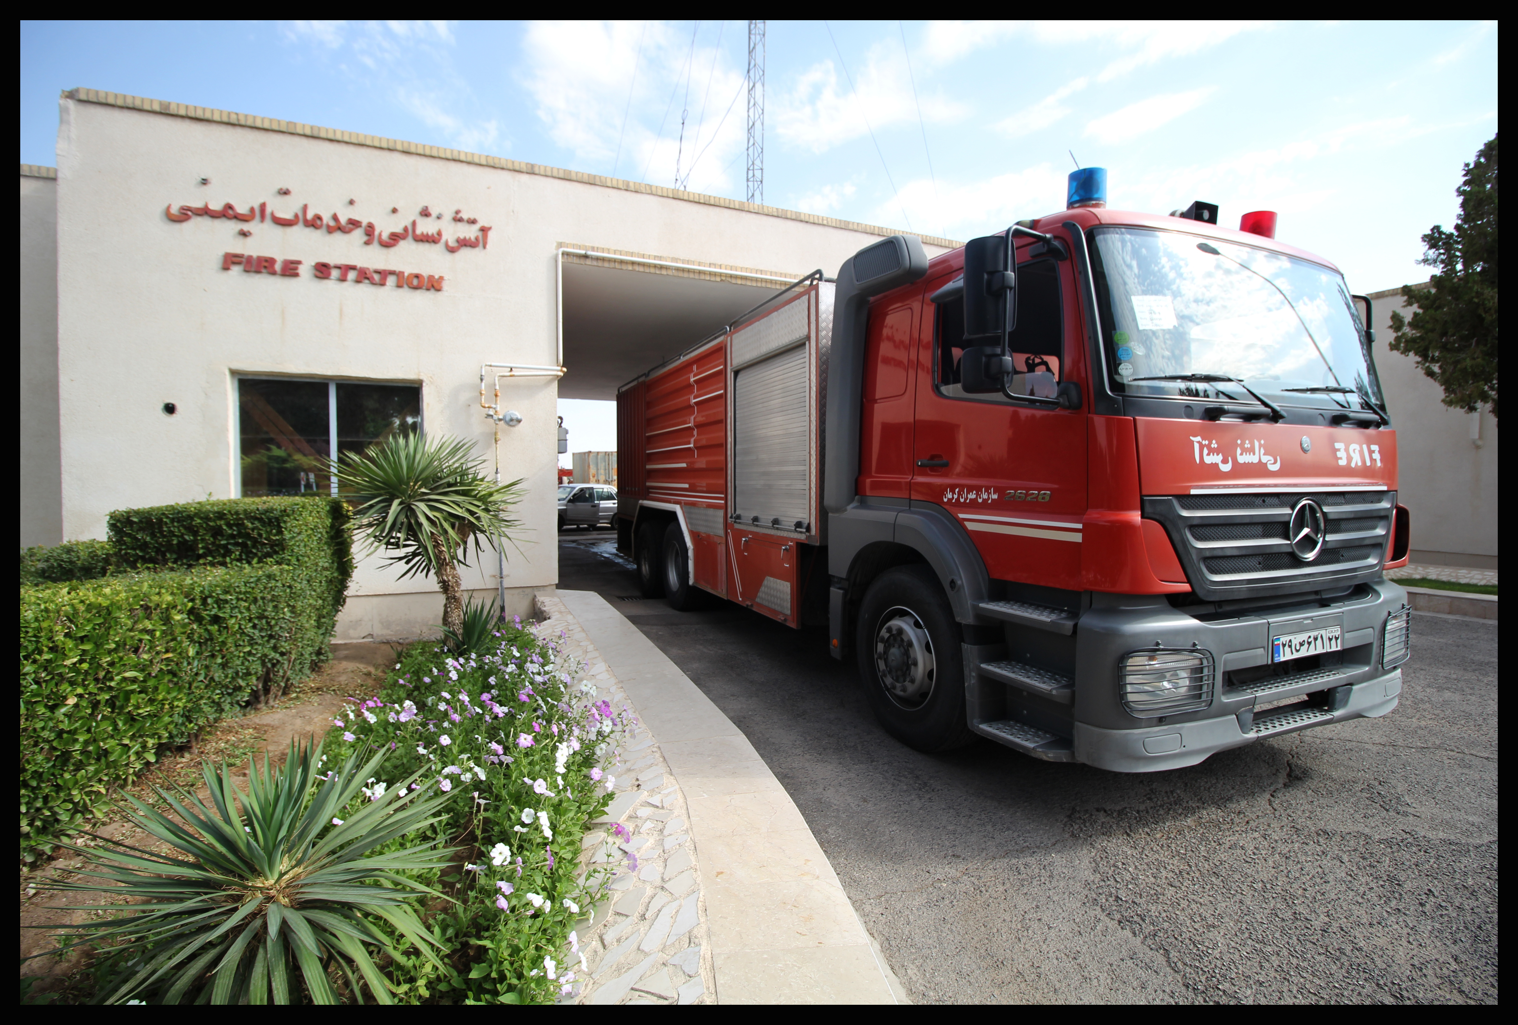
[[[331,494],[325,381],[237,382],[243,496]]]

